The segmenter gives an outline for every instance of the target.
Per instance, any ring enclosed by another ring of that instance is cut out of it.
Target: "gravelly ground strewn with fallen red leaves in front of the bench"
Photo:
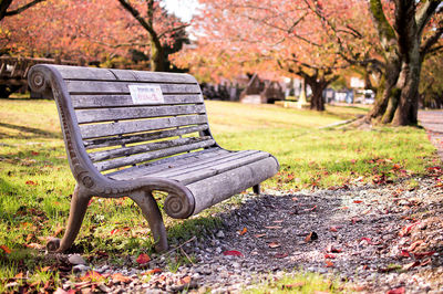
[[[443,290],[443,172],[434,167],[429,174],[414,185],[403,180],[267,191],[260,197],[245,193],[237,208],[222,203],[226,212],[218,214],[220,228],[168,254],[127,256],[122,266],[92,264],[79,254],[50,254],[55,265],[43,270],[59,270],[61,282],[42,283],[40,288],[240,292],[301,271],[341,281],[344,292],[439,292]],[[6,246],[0,251],[10,254]],[[188,262],[173,269],[171,260],[179,256]],[[23,274],[16,277],[23,279]]]

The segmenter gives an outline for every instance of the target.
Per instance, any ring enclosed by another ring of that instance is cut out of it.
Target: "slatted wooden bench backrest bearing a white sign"
[[[63,78],[85,149],[111,171],[215,146],[188,74],[51,65]]]

